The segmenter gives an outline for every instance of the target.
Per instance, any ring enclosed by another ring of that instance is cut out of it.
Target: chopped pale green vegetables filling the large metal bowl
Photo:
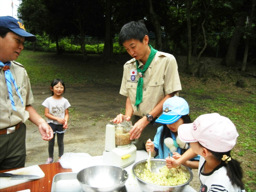
[[[159,173],[149,172],[148,169],[144,169],[143,173],[140,173],[139,169],[135,169],[134,172],[141,180],[162,186],[181,185],[186,183],[190,178],[189,173],[184,171],[180,166],[172,169],[163,166],[159,169]]]

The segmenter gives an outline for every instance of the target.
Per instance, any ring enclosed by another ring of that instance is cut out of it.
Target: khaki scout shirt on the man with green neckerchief
[[[139,61],[139,67],[143,69],[144,65]],[[139,72],[132,80],[132,71],[136,70],[135,58],[126,62],[120,94],[130,97],[133,108],[133,115],[145,116],[152,111],[155,106],[164,98],[165,95],[181,90],[180,78],[177,70],[177,62],[173,55],[165,52],[157,52],[150,66],[143,76],[143,99],[137,111],[134,106],[136,101],[137,84]]]

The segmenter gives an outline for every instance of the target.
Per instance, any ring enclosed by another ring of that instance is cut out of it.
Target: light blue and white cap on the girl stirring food
[[[181,97],[171,97],[163,103],[163,114],[156,122],[162,124],[172,124],[181,116],[189,114],[189,104]]]

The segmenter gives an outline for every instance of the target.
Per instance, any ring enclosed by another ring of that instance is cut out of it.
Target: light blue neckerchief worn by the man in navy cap
[[[9,61],[6,64],[3,64],[3,62],[0,61],[0,67],[4,67],[4,66],[11,66],[11,62]],[[15,81],[14,77],[12,76],[12,72],[8,69],[4,73],[5,73],[5,78],[6,78],[7,89],[8,89],[8,92],[9,92],[9,98],[10,98],[11,104],[12,104],[12,109],[14,111],[17,111],[17,109],[15,107],[15,102],[14,102],[14,99],[13,99],[13,96],[12,96],[12,83],[14,84],[15,90],[16,90],[18,96],[20,97],[20,101],[22,103],[22,106],[23,106],[23,99],[22,99],[22,97],[20,95],[20,92],[18,90],[18,86],[16,84],[16,81]]]

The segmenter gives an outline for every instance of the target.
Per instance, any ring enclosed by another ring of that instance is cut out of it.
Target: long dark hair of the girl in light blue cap
[[[189,114],[187,115],[183,115],[180,117],[181,119],[183,119],[183,122],[184,124],[187,124],[187,123],[192,123],[191,119],[190,119],[190,116]],[[167,137],[171,137],[171,130],[167,127],[166,124],[163,125],[163,129],[162,129],[162,132],[161,132],[161,135],[160,135],[160,143],[159,143],[159,147],[162,148],[162,151],[164,150],[163,149],[163,141],[165,138]],[[189,143],[187,143],[189,145]],[[181,149],[181,154],[185,153],[187,149]],[[164,151],[163,151],[163,154],[164,154]]]

